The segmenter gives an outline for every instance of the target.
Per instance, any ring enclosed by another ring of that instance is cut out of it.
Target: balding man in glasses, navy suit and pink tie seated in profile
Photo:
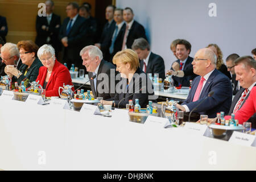
[[[177,107],[185,112],[197,107],[193,111],[195,114],[191,121],[197,121],[200,114],[214,118],[221,111],[229,111],[232,103],[232,85],[229,78],[216,69],[216,61],[216,55],[209,48],[197,51],[192,61],[193,72],[199,76],[193,80],[187,100],[182,105],[177,104]],[[210,92],[214,94],[206,98]],[[198,106],[201,101],[203,103]]]

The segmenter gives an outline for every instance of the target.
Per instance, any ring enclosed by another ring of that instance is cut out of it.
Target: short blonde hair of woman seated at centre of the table
[[[113,63],[116,64],[117,61],[120,61],[123,64],[130,64],[131,69],[137,70],[139,67],[139,57],[132,49],[124,49],[117,52],[113,57]]]

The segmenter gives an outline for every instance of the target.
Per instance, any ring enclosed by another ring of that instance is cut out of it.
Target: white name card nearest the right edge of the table
[[[238,131],[234,131],[229,138],[229,142],[234,144],[241,144],[242,146],[251,146],[255,140],[255,135],[245,134]]]

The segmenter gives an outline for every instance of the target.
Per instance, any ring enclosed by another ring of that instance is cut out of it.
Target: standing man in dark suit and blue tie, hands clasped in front
[[[59,39],[64,46],[63,62],[67,62],[68,68],[71,64],[84,68],[81,64],[80,50],[84,47],[86,24],[85,18],[78,14],[79,5],[75,2],[69,3],[66,7],[68,18],[65,18],[60,28]]]

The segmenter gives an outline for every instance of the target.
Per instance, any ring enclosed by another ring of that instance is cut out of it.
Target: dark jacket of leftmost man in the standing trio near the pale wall
[[[114,30],[115,30],[114,20],[112,20],[111,24],[106,23],[103,28],[101,40],[100,40],[103,59],[110,62],[112,61],[110,60],[109,47],[111,45],[111,40],[112,40]]]

